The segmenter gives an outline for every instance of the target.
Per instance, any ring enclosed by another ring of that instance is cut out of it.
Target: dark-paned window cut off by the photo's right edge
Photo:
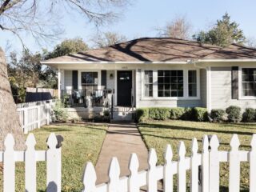
[[[242,69],[242,96],[256,97],[256,68]]]

